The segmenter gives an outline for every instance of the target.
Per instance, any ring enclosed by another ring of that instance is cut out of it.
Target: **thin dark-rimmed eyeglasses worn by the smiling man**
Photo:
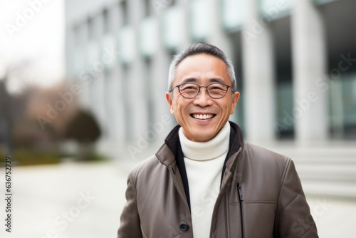
[[[200,88],[206,88],[206,93],[208,93],[211,98],[219,99],[226,95],[227,90],[231,88],[231,86],[222,83],[211,83],[208,86],[199,86],[195,83],[182,83],[174,88],[178,88],[180,95],[184,98],[195,98],[200,93]],[[169,93],[171,93],[174,88],[172,88]],[[232,88],[231,90],[234,93]]]

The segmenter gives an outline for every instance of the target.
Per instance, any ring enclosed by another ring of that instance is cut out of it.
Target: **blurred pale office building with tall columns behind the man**
[[[67,74],[103,148],[162,143],[175,124],[169,62],[194,41],[234,62],[241,98],[231,120],[247,140],[355,140],[355,9],[353,0],[70,0]]]

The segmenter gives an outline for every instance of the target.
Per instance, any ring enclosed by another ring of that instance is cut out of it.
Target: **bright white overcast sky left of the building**
[[[51,85],[64,76],[64,0],[0,0],[0,78],[30,61],[25,81]],[[16,79],[9,90],[19,88]]]

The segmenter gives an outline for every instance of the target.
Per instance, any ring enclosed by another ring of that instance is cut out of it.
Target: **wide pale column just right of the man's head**
[[[258,0],[246,1],[247,19],[241,36],[244,67],[246,138],[268,141],[275,138],[273,41],[268,26],[261,24]]]

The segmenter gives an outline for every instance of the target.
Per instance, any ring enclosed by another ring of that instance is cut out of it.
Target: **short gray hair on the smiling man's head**
[[[169,73],[168,73],[168,91],[172,90],[173,88],[173,82],[175,77],[177,76],[177,68],[179,66],[179,63],[181,63],[184,58],[187,58],[188,56],[194,56],[197,54],[205,53],[210,56],[215,56],[217,58],[220,58],[221,61],[224,61],[226,64],[227,68],[227,73],[229,75],[229,78],[232,83],[232,90],[236,90],[236,77],[235,77],[235,71],[234,71],[234,66],[232,62],[229,60],[229,58],[226,57],[225,53],[221,51],[221,49],[217,48],[216,46],[213,46],[209,43],[193,43],[191,46],[185,48],[183,51],[175,55],[172,59],[172,62],[169,66]]]

